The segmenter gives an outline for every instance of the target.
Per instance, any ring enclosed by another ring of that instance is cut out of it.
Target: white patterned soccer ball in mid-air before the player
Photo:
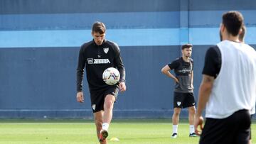
[[[119,82],[120,73],[114,67],[109,67],[103,72],[102,79],[106,84],[114,85]]]

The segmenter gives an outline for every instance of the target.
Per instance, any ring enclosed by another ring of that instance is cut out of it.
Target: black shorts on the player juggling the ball
[[[119,89],[117,85],[107,87],[106,89],[100,89],[95,92],[90,92],[91,108],[92,112],[104,110],[104,101],[107,94],[112,94],[117,99]]]

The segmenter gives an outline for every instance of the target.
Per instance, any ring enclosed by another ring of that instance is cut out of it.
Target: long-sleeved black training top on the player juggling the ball
[[[82,78],[84,68],[90,92],[110,87],[102,79],[102,73],[108,67],[115,67],[120,72],[119,82],[125,82],[125,70],[116,43],[104,40],[102,45],[97,45],[94,40],[81,46],[77,68],[77,92],[82,91]]]

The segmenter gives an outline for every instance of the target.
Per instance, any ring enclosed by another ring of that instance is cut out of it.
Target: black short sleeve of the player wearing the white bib
[[[220,67],[221,53],[218,46],[215,45],[206,51],[205,64],[202,73],[216,78],[220,72]]]

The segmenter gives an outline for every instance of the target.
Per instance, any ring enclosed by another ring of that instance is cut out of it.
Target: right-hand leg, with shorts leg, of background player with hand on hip
[[[188,107],[189,137],[196,137],[194,122],[196,118],[195,98],[193,93],[184,93],[183,107]]]

